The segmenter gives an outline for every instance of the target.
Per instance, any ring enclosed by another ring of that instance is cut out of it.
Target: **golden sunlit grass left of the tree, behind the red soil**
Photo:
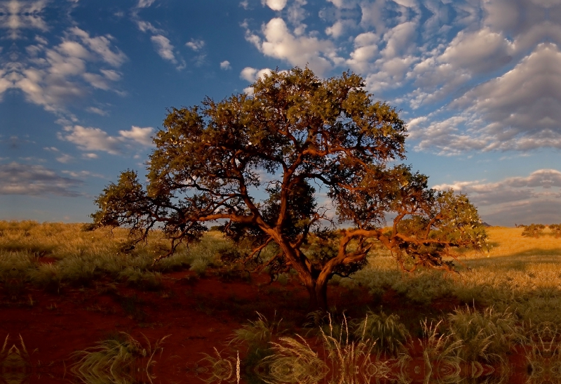
[[[61,286],[87,286],[109,277],[144,290],[161,288],[161,273],[218,266],[219,249],[231,246],[219,232],[197,244],[180,246],[175,255],[153,265],[167,251],[168,240],[154,231],[132,246],[128,231],[84,231],[81,224],[0,221],[0,283],[29,282],[60,293]],[[44,258],[52,262],[41,263]],[[13,285],[13,284],[8,284]]]

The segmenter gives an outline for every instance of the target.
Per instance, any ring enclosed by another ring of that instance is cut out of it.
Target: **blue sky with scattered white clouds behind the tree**
[[[561,0],[0,1],[0,219],[86,222],[166,108],[362,74],[407,164],[492,225],[561,222]]]

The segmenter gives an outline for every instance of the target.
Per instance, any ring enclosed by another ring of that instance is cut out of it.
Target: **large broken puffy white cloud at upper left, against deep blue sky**
[[[50,48],[46,39],[36,37],[26,47],[27,60],[0,67],[0,95],[15,88],[29,102],[61,112],[68,102],[88,95],[90,87],[112,90],[120,75],[110,68],[127,60],[113,40],[110,35],[92,37],[79,27],[67,29],[62,42]]]

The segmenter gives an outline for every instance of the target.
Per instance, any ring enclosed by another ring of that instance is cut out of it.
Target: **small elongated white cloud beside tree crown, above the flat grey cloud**
[[[100,151],[109,154],[122,154],[125,147],[137,143],[140,145],[151,145],[150,138],[154,128],[132,126],[130,131],[119,131],[119,135],[111,136],[101,128],[84,127],[79,125],[66,126],[62,133],[59,133],[60,140],[74,143],[79,150]],[[95,158],[94,156],[88,156]]]

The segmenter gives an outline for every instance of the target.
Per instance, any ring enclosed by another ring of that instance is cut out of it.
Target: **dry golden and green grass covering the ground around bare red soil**
[[[418,374],[432,382],[475,382],[490,370],[494,373],[487,382],[506,383],[508,361],[517,353],[525,355],[530,367],[527,383],[561,383],[561,239],[547,230],[539,239],[522,237],[521,232],[522,228],[489,228],[492,249],[461,255],[459,274],[433,270],[405,274],[391,254],[380,248],[372,251],[370,264],[352,279],[332,279],[330,284],[366,287],[382,306],[388,292],[414,305],[446,298],[461,303],[451,312],[426,319],[417,329],[408,329],[403,311],[400,319],[373,302],[372,310],[357,319],[347,319],[336,308],[330,314],[310,314],[306,338],[281,333],[278,320],[267,322],[259,315],[257,321],[234,331],[232,343],[248,347],[242,365],[260,369],[257,376],[267,383],[316,383],[329,375],[338,383],[407,382],[412,373],[403,367],[416,358],[424,361],[417,367]],[[235,270],[217,258],[220,249],[231,246],[218,232],[209,232],[200,244],[180,249],[154,266],[153,258],[165,246],[157,233],[135,249],[127,241],[126,230],[84,232],[79,224],[0,222],[0,234],[0,283],[6,303],[17,298],[25,284],[57,293],[67,285],[111,277],[156,290],[165,272],[189,269],[203,277],[209,269],[220,269],[222,274],[228,268]],[[52,263],[40,263],[41,259]],[[279,279],[295,277],[285,274]],[[309,345],[312,336],[315,347]],[[104,350],[114,356],[104,356]],[[122,355],[123,351],[128,355]],[[1,353],[6,355],[6,345]],[[102,376],[109,370],[115,382],[128,383],[123,379],[128,371],[117,372],[111,364],[123,356],[127,364],[133,364],[135,354],[147,356],[132,338],[106,341],[81,352],[80,361],[87,366],[76,366],[74,371],[85,377],[86,371]],[[205,362],[214,367],[210,380],[236,381],[237,356],[217,353]]]

